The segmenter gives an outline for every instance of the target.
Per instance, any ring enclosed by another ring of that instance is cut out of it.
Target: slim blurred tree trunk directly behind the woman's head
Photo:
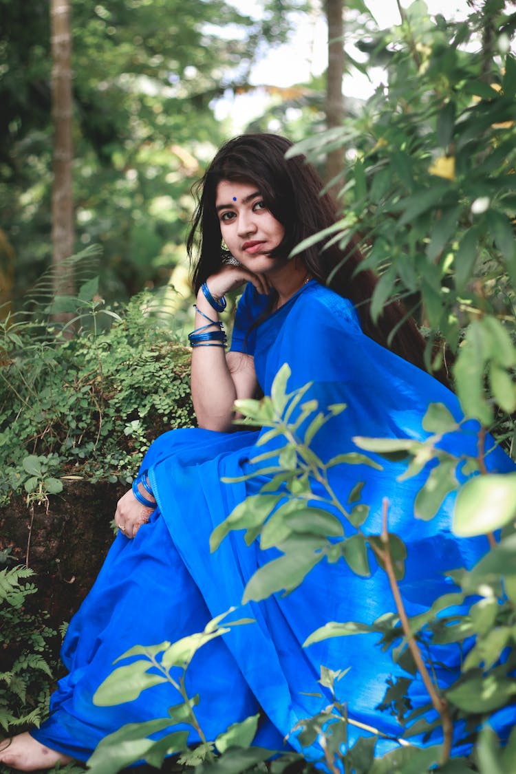
[[[328,22],[328,70],[326,74],[326,124],[341,126],[344,118],[342,79],[344,74],[344,0],[326,0]],[[332,150],[326,159],[326,182],[335,195],[343,187],[343,149]],[[333,181],[333,182],[332,182]]]

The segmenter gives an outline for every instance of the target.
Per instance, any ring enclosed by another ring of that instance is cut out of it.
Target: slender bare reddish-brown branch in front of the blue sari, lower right
[[[370,543],[370,545],[374,553],[376,553],[378,558],[381,559],[381,561],[384,563],[385,572],[387,573],[389,584],[391,586],[391,592],[395,599],[396,610],[398,611],[399,619],[402,625],[402,630],[405,635],[405,639],[407,640],[408,648],[412,653],[412,658],[414,659],[415,666],[417,666],[419,673],[422,677],[422,681],[425,685],[425,688],[428,691],[430,699],[432,700],[432,706],[434,707],[436,712],[439,713],[439,717],[441,718],[441,724],[443,725],[443,754],[442,754],[441,764],[444,765],[446,761],[449,760],[449,756],[451,753],[452,740],[453,740],[453,724],[452,724],[451,718],[449,717],[448,704],[446,700],[443,699],[443,697],[439,696],[439,693],[437,692],[436,687],[432,683],[432,678],[430,677],[429,670],[426,667],[426,664],[421,655],[421,651],[419,650],[418,643],[415,641],[414,636],[412,635],[412,632],[410,629],[407,613],[405,611],[405,605],[403,604],[402,595],[400,594],[400,591],[399,591],[398,580],[396,579],[394,565],[392,563],[391,551],[389,549],[389,534],[388,534],[388,526],[387,526],[387,519],[388,519],[388,499],[387,498],[384,498],[383,505],[384,505],[383,524],[382,524],[380,539],[381,539],[381,543],[385,546],[385,548],[384,550],[382,550],[378,548],[378,546],[375,546],[374,543]]]

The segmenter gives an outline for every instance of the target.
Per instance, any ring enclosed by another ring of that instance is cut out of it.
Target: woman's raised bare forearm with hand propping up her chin
[[[259,293],[268,293],[265,277],[252,274],[243,267],[224,267],[207,280],[207,286],[214,299],[219,300],[229,290],[246,282],[253,283]],[[197,293],[196,307],[195,327],[206,325],[206,317],[209,317],[215,324],[207,330],[217,330],[219,315],[202,289]],[[251,398],[255,394],[254,358],[241,352],[228,352],[226,355],[224,348],[217,346],[194,347],[191,384],[193,408],[199,426],[220,432],[230,430],[234,419],[234,401]]]

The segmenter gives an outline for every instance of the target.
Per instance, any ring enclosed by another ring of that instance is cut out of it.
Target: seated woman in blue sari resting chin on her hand
[[[210,618],[239,604],[248,579],[270,558],[256,541],[247,546],[240,532],[213,554],[209,550],[213,529],[264,483],[263,478],[221,480],[252,472],[253,457],[273,448],[272,443],[257,447],[258,431],[231,432],[235,399],[251,398],[257,390],[269,394],[279,368],[288,363],[289,391],[312,382],[306,399],[317,399],[321,409],[347,404],[316,435],[314,448],[324,459],[354,450],[356,435],[424,438],[421,420],[431,401],[460,416],[454,396],[417,367],[422,340],[412,322],[402,323],[402,310],[391,304],[378,326],[371,324],[367,300],[374,279],[355,273],[360,261],[355,245],[346,255],[336,245],[322,251],[313,246],[289,260],[295,245],[335,217],[313,168],[301,156],[285,160],[289,146],[276,135],[237,137],[220,149],[200,183],[188,240],[190,256],[199,252],[196,329],[190,334],[199,428],[159,437],[132,490],[118,502],[120,533],[63,644],[69,674],[60,680],[42,727],[4,742],[0,761],[8,765],[30,770],[84,761],[121,725],[163,717],[178,701],[168,685],[115,707],[97,707],[91,697],[130,647],[200,631]],[[334,289],[325,286],[329,276]],[[224,296],[242,286],[231,351],[225,354]],[[387,348],[395,326],[398,354]],[[451,443],[457,454],[476,453],[474,435],[456,433]],[[489,459],[501,471],[510,466],[497,451]],[[332,484],[347,502],[355,482],[365,481],[369,533],[380,531],[381,504],[388,498],[390,530],[408,544],[401,587],[408,615],[415,615],[448,588],[443,570],[470,565],[487,546],[481,540],[457,541],[449,533],[451,495],[431,522],[416,521],[413,502],[421,479],[397,481],[402,471],[398,463],[372,473],[369,467],[340,465]],[[354,532],[349,524],[344,528]],[[367,735],[360,727],[377,728],[386,740],[400,735],[395,717],[377,709],[392,662],[372,635],[301,648],[309,633],[329,620],[372,622],[392,608],[378,567],[371,567],[371,577],[359,578],[343,562],[321,562],[289,596],[248,605],[256,623],[203,647],[188,673],[189,695],[200,694],[196,715],[207,738],[261,712],[255,743],[282,748],[300,719],[328,703],[313,695],[320,690],[321,664],[350,667],[341,683],[354,721],[350,743]],[[455,657],[458,663],[458,654],[446,648],[439,654],[445,664]],[[418,691],[415,681],[413,701],[425,703]],[[191,735],[190,743],[195,741]],[[295,735],[290,742],[300,747]]]

